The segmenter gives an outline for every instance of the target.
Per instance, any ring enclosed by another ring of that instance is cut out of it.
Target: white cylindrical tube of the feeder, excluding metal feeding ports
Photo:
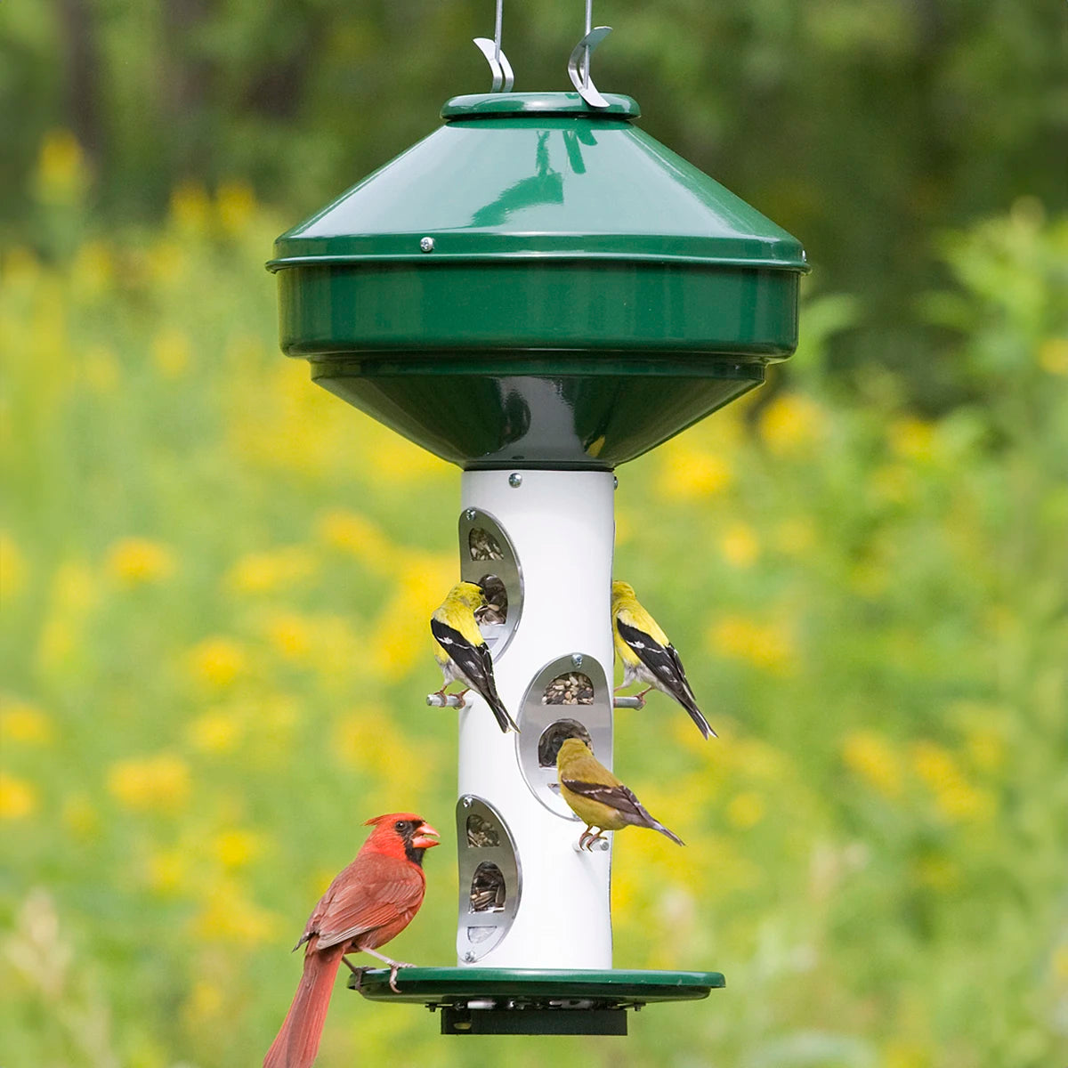
[[[509,483],[511,474],[467,471],[460,493],[462,508],[497,519],[522,569],[519,627],[493,664],[501,697],[517,716],[531,680],[559,657],[581,651],[595,658],[612,685],[614,486],[611,472],[602,471],[524,470],[512,478],[519,485]],[[581,711],[582,706],[561,708],[580,722]],[[522,880],[511,930],[477,963],[611,968],[611,850],[576,851],[583,824],[537,800],[520,770],[516,742],[514,734],[501,733],[482,700],[460,711],[460,797],[483,798],[501,813],[516,843]],[[611,745],[597,756],[611,767]]]

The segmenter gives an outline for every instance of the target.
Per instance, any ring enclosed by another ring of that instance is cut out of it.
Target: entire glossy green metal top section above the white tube
[[[445,104],[276,241],[283,350],[467,470],[611,470],[763,381],[800,242],[607,99]]]

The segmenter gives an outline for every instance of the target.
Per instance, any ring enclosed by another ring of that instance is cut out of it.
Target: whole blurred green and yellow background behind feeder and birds
[[[578,0],[511,3],[561,89]],[[627,1039],[443,1039],[339,989],[324,1068],[1068,1062],[1068,89],[1037,0],[599,2],[601,89],[800,236],[802,344],[619,472],[616,574],[720,731],[617,766]],[[272,238],[487,88],[492,4],[0,5],[3,1068],[257,1064],[363,818],[451,826],[426,617],[458,474],[277,349]],[[650,744],[650,731],[657,732]],[[453,843],[396,955],[450,963]]]

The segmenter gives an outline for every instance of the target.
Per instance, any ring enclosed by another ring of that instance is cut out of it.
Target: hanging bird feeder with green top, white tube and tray
[[[574,93],[449,100],[268,264],[283,350],[462,469],[459,572],[494,592],[484,634],[520,733],[473,694],[428,712],[459,729],[457,967],[406,969],[399,993],[384,972],[361,984],[440,1008],[449,1034],[626,1034],[626,1008],[724,984],[613,970],[611,847],[577,849],[555,750],[583,737],[612,765],[614,469],[794,351],[807,268],[643,132],[633,99],[577,79],[581,61]]]

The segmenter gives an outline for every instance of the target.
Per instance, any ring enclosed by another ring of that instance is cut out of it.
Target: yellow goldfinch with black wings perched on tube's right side
[[[612,583],[612,631],[615,651],[623,661],[623,686],[645,682],[646,689],[638,694],[639,697],[644,697],[654,687],[661,690],[690,713],[705,738],[714,737],[716,732],[697,707],[675,646],[657,626],[657,621],[642,608],[634,596],[634,587],[626,582]]]

